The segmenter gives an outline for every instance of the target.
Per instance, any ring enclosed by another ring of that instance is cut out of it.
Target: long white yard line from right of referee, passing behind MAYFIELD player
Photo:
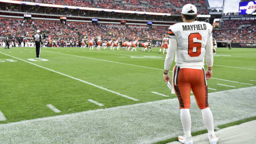
[[[47,50],[44,50],[44,51],[50,52],[50,51],[47,51]],[[50,52],[50,53],[57,53],[57,52]],[[70,56],[80,57],[80,58],[88,58],[88,59],[101,60],[101,61],[111,62],[111,63],[125,64],[125,65],[131,65],[131,66],[138,66],[138,67],[142,67],[142,68],[149,68],[149,69],[156,69],[156,70],[164,70],[164,69],[150,68],[150,67],[141,66],[141,65],[134,65],[134,64],[127,64],[127,63],[119,63],[119,62],[114,62],[114,61],[104,60],[104,59],[96,59],[96,58],[82,57],[82,56],[72,55],[72,54],[65,54],[65,53],[58,53],[58,54],[70,55]],[[245,84],[245,85],[253,85],[253,84],[247,84],[247,83],[243,83],[243,82],[231,81],[231,80],[225,80],[225,79],[218,79],[218,78],[212,78],[212,79],[223,80],[223,81],[229,81],[229,82],[235,82],[235,83]]]

